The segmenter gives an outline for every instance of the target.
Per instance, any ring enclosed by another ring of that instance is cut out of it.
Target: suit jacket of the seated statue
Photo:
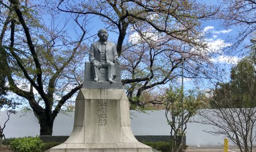
[[[93,42],[89,52],[89,61],[97,60],[101,62],[101,42],[100,40]],[[106,62],[114,64],[114,61],[118,60],[118,55],[116,51],[116,46],[111,41],[106,41]],[[112,71],[115,75],[115,71]]]

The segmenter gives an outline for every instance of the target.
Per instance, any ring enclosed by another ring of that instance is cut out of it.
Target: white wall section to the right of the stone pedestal
[[[150,114],[143,114],[132,111],[131,126],[134,135],[170,135],[170,126],[167,124],[164,110],[148,111]],[[196,116],[195,116],[196,118]],[[188,123],[186,129],[186,145],[189,146],[220,146],[223,144],[224,137],[213,136],[203,132],[212,129],[210,125],[198,123]],[[231,144],[232,145],[232,144]]]

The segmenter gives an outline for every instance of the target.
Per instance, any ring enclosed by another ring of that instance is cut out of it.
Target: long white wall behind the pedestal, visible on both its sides
[[[148,111],[140,113],[131,111],[131,127],[134,135],[170,135],[170,126],[167,125],[164,110]],[[1,126],[6,120],[6,113],[1,111]],[[72,132],[74,113],[68,115],[58,114],[53,125],[53,135],[68,136]],[[211,129],[211,126],[189,123],[186,132],[186,144],[191,146],[216,146],[223,143],[223,137],[213,136],[203,130]],[[6,124],[4,134],[9,137],[36,136],[40,134],[40,124],[37,118],[31,113],[18,112],[11,115]]]

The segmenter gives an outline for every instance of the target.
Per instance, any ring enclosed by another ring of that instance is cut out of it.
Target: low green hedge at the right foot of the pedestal
[[[166,143],[166,142],[143,142],[143,144],[150,146],[156,150],[162,151],[162,152],[169,152],[170,151],[170,143]],[[188,146],[184,145],[183,149],[188,148]],[[180,150],[182,151],[182,150]],[[180,152],[179,151],[179,152]]]

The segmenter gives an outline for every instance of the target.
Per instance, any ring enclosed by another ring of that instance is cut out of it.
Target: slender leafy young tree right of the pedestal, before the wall
[[[189,90],[185,93],[175,88],[166,90],[163,96],[165,117],[171,127],[171,151],[180,151],[182,137],[185,136],[186,124],[200,108],[205,105],[205,95],[198,90]]]

